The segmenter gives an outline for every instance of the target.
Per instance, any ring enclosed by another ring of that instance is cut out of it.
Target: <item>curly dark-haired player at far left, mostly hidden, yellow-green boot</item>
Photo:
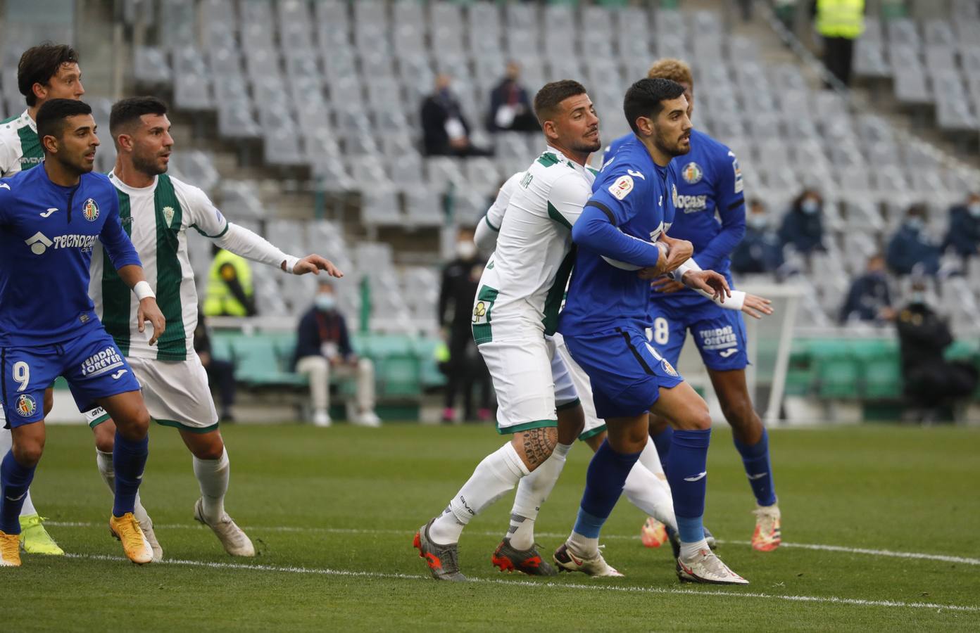
[[[17,84],[27,108],[18,116],[0,121],[0,178],[13,176],[44,160],[44,149],[34,122],[44,102],[51,99],[81,99],[85,94],[81,85],[81,69],[78,68],[78,54],[65,44],[41,44],[28,48],[17,66]],[[45,416],[51,412],[53,404],[53,391],[49,387],[44,391]],[[110,438],[110,446],[111,441]],[[6,428],[6,420],[0,412],[0,455],[10,450],[12,442],[11,431]],[[109,449],[109,464],[112,466],[112,448]],[[111,481],[107,480],[107,483],[110,488],[114,487]],[[146,515],[138,496],[135,514],[137,519]],[[145,522],[150,525],[149,518]],[[146,536],[152,542],[152,527],[148,527]],[[21,545],[28,554],[65,554],[41,524],[30,491],[27,491],[21,511]]]

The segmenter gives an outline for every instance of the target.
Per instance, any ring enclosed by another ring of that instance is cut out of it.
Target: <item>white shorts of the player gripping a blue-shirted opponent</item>
[[[497,392],[497,432],[558,427],[554,347],[543,335],[488,340],[477,346]]]

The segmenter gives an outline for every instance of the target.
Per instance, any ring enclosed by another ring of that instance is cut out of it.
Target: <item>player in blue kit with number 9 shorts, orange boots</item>
[[[44,162],[0,180],[0,400],[14,443],[0,464],[0,566],[20,566],[19,516],[44,448],[44,390],[64,376],[79,411],[117,421],[116,494],[109,527],[133,563],[153,552],[133,518],[148,455],[150,416],[123,353],[93,311],[89,261],[96,241],[139,297],[136,318],[163,334],[164,315],[143,278],[109,178],[91,173],[99,145],[92,110],[55,99],[37,113]]]

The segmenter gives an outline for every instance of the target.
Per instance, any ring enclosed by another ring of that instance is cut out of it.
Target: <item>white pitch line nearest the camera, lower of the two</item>
[[[66,554],[67,558],[88,561],[120,561],[125,562],[121,556],[106,556],[104,554]],[[156,565],[185,565],[195,567],[209,567],[213,569],[244,569],[250,571],[276,571],[283,573],[305,573],[324,576],[348,576],[359,578],[379,578],[395,580],[427,580],[428,576],[410,573],[386,573],[381,571],[352,571],[348,569],[330,569],[323,567],[297,567],[292,565],[245,565],[241,563],[210,563],[207,561],[179,561],[164,560],[163,563]],[[530,580],[508,580],[504,578],[476,578],[469,577],[469,582],[483,584],[500,585],[520,585],[525,587],[548,587],[552,589],[573,589],[587,591],[609,591],[625,593],[645,593],[645,594],[666,594],[684,596],[713,596],[718,598],[757,598],[762,600],[781,600],[788,602],[832,604],[832,605],[852,605],[856,607],[887,607],[892,609],[928,609],[928,610],[951,610],[965,612],[980,612],[980,607],[967,605],[940,605],[938,603],[905,603],[893,600],[861,600],[858,598],[837,598],[836,596],[792,596],[780,594],[749,593],[741,591],[704,591],[698,589],[676,589],[667,587],[639,587],[622,585],[597,585],[581,583],[557,583],[557,582],[533,582]]]

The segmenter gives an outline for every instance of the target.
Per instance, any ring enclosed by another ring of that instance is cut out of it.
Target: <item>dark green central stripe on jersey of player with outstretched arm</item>
[[[177,258],[183,211],[167,174],[158,176],[153,203],[157,216],[157,305],[167,319],[167,330],[157,339],[157,358],[186,360],[187,333],[184,332],[180,303],[182,274]]]

